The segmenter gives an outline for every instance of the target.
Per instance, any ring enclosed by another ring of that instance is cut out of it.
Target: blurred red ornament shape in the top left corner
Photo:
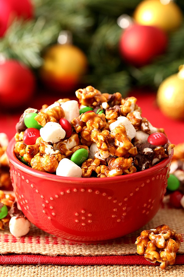
[[[33,17],[30,0],[0,0],[0,37],[2,37],[15,18]]]

